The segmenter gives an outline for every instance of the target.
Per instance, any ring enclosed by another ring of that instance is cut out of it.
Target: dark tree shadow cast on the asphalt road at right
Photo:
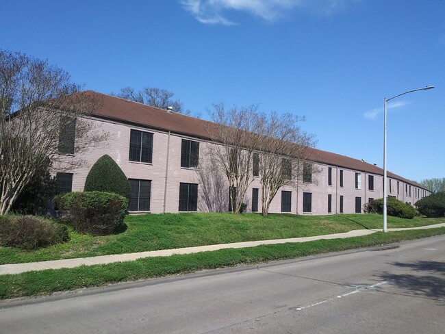
[[[395,262],[394,266],[410,270],[407,274],[383,272],[379,277],[414,296],[445,298],[445,264],[438,261],[416,261],[408,264]]]

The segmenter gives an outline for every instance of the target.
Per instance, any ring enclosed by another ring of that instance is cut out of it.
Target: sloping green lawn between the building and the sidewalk
[[[388,217],[388,228],[418,227],[445,222],[445,218],[401,219]],[[380,229],[382,216],[345,214],[295,216],[270,214],[149,214],[127,216],[127,230],[117,235],[93,237],[70,229],[71,240],[37,251],[0,248],[0,264],[16,264],[97,255],[157,251],[160,249],[284,239],[353,229]]]

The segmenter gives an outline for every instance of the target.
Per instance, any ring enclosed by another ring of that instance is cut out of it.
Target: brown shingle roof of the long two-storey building
[[[97,94],[97,97],[101,101],[100,106],[93,113],[94,116],[118,120],[123,123],[132,123],[134,125],[150,127],[153,129],[172,131],[187,136],[209,139],[209,134],[206,129],[208,129],[209,125],[212,125],[212,123],[207,120],[201,120],[199,118],[177,114],[175,112],[167,112],[160,108],[127,101],[125,99],[112,97],[98,92],[88,91],[88,94]],[[310,149],[309,159],[321,164],[369,172],[375,175],[383,175],[383,169],[374,166],[373,164],[368,164],[367,162],[346,157],[344,155],[321,151],[319,149]],[[400,177],[392,172],[388,172],[387,175],[393,179],[398,179],[423,188],[418,183]]]

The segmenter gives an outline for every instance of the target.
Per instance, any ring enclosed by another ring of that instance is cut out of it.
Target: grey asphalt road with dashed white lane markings
[[[442,334],[445,237],[123,287],[0,309],[0,333]]]

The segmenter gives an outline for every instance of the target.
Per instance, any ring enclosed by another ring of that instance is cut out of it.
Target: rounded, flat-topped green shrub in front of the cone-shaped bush
[[[92,235],[116,233],[124,226],[128,207],[127,198],[112,192],[68,192],[56,196],[55,203],[76,231]]]

